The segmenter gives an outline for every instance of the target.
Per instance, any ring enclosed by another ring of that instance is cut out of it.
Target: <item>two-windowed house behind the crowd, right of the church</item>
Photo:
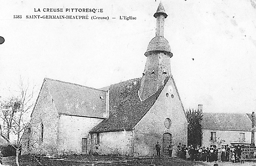
[[[250,146],[252,121],[246,113],[203,112],[202,146]]]

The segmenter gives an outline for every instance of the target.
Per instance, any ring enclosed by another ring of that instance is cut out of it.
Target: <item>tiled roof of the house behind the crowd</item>
[[[251,131],[251,125],[246,113],[203,112],[203,129]]]

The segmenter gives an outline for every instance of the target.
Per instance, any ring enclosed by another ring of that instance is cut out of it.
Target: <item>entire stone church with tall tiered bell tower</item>
[[[171,74],[167,17],[160,2],[156,36],[142,78],[95,89],[45,78],[24,133],[23,153],[156,155],[155,144],[187,144],[187,117]]]

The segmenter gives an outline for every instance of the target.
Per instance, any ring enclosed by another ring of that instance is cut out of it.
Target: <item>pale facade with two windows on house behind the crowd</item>
[[[216,132],[216,141],[211,141],[211,132]],[[245,133],[245,142],[251,142],[251,131],[232,131],[232,130],[206,130],[203,129],[202,145],[210,147],[210,145],[216,145],[220,140],[225,140],[221,145],[229,144],[230,142],[239,142],[240,133]],[[243,142],[241,142],[243,143]]]

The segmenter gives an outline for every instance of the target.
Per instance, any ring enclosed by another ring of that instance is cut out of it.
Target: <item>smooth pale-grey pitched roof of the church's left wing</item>
[[[49,78],[44,79],[43,85],[45,83],[58,113],[106,118],[106,90]],[[103,99],[100,99],[100,96]]]

